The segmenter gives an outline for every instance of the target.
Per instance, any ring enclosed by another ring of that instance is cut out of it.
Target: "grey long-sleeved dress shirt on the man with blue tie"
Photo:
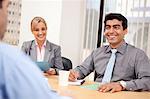
[[[95,49],[85,61],[75,68],[83,79],[95,70],[95,81],[101,82],[111,56],[111,47]],[[111,82],[126,82],[126,90],[150,91],[150,60],[144,51],[123,43],[117,48],[116,62]]]

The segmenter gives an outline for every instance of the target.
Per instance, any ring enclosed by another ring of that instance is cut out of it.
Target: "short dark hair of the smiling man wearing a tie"
[[[127,29],[128,27],[128,20],[120,13],[109,13],[105,16],[104,24],[106,26],[106,22],[108,20],[117,19],[119,21],[122,21],[123,30]]]

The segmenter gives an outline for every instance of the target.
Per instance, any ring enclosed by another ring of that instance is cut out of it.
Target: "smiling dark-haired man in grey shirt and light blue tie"
[[[119,13],[107,14],[104,36],[109,45],[97,48],[71,70],[69,80],[83,79],[95,71],[95,81],[103,83],[100,92],[150,91],[150,60],[144,51],[125,42],[127,23]]]

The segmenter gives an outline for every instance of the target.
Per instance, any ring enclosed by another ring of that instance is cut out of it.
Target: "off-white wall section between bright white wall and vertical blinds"
[[[74,67],[80,63],[84,0],[63,0],[60,28],[62,55],[70,58]]]

